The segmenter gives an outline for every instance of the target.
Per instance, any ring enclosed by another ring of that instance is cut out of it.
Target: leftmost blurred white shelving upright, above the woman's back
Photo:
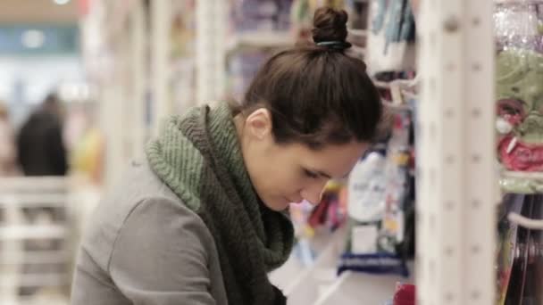
[[[159,1],[162,2],[162,1]],[[105,185],[119,181],[131,158],[142,154],[146,124],[146,12],[143,0],[96,0],[83,16],[83,53],[96,92],[104,133]]]

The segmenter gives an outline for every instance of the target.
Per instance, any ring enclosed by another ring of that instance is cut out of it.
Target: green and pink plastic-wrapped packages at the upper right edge
[[[543,170],[543,15],[539,4],[497,4],[494,13],[499,160],[507,170]],[[506,191],[527,193],[515,182]],[[530,193],[530,192],[528,192]]]

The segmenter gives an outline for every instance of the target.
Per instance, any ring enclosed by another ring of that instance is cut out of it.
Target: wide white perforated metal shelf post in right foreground
[[[491,0],[422,2],[417,304],[495,303]]]

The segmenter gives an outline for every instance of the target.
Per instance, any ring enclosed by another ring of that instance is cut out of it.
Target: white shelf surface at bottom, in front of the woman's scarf
[[[345,249],[347,230],[342,227],[332,235],[317,237],[322,244],[319,257],[309,268],[291,257],[270,280],[288,296],[288,304],[384,304],[394,294],[396,284],[414,283],[414,276],[370,275],[343,272],[337,276],[338,258]],[[319,247],[321,248],[321,247]],[[408,263],[414,270],[414,264]]]

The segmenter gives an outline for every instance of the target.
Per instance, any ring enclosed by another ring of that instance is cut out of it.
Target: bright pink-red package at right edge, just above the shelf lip
[[[543,145],[525,144],[514,136],[505,136],[497,145],[498,154],[506,169],[543,171]]]

